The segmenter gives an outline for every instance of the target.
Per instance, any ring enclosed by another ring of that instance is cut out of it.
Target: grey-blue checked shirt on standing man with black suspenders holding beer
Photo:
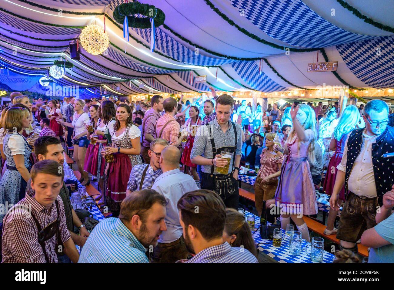
[[[229,129],[225,133],[223,133],[217,119],[215,118],[213,121],[209,122],[208,125],[211,128],[211,132],[214,137],[216,148],[221,148],[225,146],[234,146],[235,145],[235,134],[234,128],[232,127],[231,122],[229,121]],[[235,124],[235,128],[237,130],[237,148],[236,155],[242,156],[242,127],[240,124]],[[220,154],[220,152],[217,152]],[[212,152],[212,144],[210,140],[210,136],[208,136],[208,129],[206,125],[200,126],[197,130],[197,134],[194,137],[193,148],[191,149],[190,159],[193,159],[196,156],[204,156],[205,158],[212,159],[214,158],[214,154]],[[229,166],[229,172],[232,172],[232,163],[234,162],[234,154],[231,154],[231,164]],[[205,173],[211,172],[211,167],[207,165],[202,166],[202,170]],[[214,170],[214,174],[218,174],[216,168]]]

